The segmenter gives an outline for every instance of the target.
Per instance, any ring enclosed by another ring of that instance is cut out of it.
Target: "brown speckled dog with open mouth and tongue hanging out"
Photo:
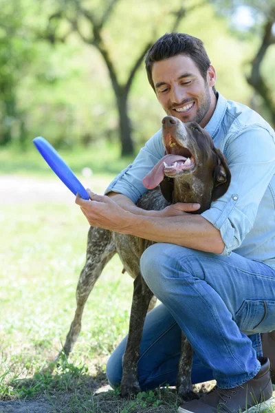
[[[144,178],[148,191],[137,202],[137,207],[160,211],[175,202],[198,202],[195,213],[210,208],[210,203],[223,195],[230,184],[230,171],[223,153],[214,147],[212,138],[197,123],[181,123],[166,116],[162,120],[163,143],[166,156]],[[159,185],[159,186],[158,186]],[[81,329],[83,309],[104,266],[115,253],[120,255],[127,273],[135,279],[129,326],[129,336],[123,357],[123,375],[120,384],[122,396],[140,392],[137,361],[144,319],[155,304],[155,297],[140,274],[140,257],[153,244],[133,235],[114,233],[91,227],[88,234],[87,261],[80,274],[76,290],[77,308],[67,335],[63,352],[71,352]],[[177,378],[177,391],[185,401],[194,399],[190,380],[192,348],[182,335],[181,358]]]

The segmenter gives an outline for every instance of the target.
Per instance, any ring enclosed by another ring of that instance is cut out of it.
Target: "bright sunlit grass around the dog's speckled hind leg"
[[[89,225],[73,202],[15,200],[1,208],[1,223],[0,376],[10,368],[9,377],[30,377],[65,341]],[[72,361],[80,359],[94,371],[109,356],[126,335],[131,295],[132,280],[114,257],[89,297]]]

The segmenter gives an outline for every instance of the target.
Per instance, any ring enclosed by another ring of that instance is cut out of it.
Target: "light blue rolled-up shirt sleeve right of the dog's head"
[[[232,174],[228,191],[201,216],[219,229],[223,255],[241,246],[254,224],[259,204],[275,172],[274,136],[250,127],[228,138],[225,156]]]

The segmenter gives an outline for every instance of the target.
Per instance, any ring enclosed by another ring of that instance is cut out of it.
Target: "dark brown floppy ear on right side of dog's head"
[[[225,156],[217,148],[214,148],[214,152],[217,155],[218,164],[214,167],[214,190],[212,193],[212,201],[221,198],[221,196],[225,194],[231,181],[231,173]]]

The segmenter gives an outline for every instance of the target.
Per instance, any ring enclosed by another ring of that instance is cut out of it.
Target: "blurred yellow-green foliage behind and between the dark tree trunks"
[[[173,10],[181,3],[174,2]],[[196,3],[199,2],[182,4],[188,10]],[[12,140],[15,145],[28,148],[32,138],[39,135],[57,148],[118,142],[118,111],[102,56],[76,33],[70,33],[65,19],[49,21],[58,10],[73,17],[75,2],[1,0],[0,4],[0,145]],[[96,0],[83,1],[83,5],[95,12],[96,19],[107,6]],[[250,33],[240,41],[225,17],[217,17],[213,6],[201,3],[186,12],[178,30],[204,41],[217,69],[218,89],[228,98],[249,104],[252,91],[244,78],[248,66],[243,63],[253,56],[257,34]],[[120,83],[129,76],[146,42],[170,30],[173,10],[164,0],[116,3],[103,37]],[[85,19],[81,29],[89,34]],[[64,42],[58,42],[58,38]],[[272,73],[273,61],[270,52],[264,68],[267,75]],[[272,88],[272,76],[269,79]],[[159,129],[164,115],[148,85],[144,67],[137,72],[131,89],[129,114],[133,137],[140,147]]]

